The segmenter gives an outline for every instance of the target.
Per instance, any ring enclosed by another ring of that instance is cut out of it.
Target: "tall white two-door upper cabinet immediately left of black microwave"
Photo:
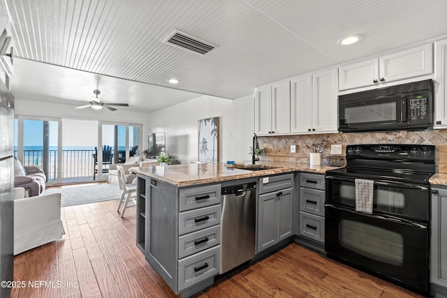
[[[337,69],[295,77],[291,89],[292,133],[337,132]]]

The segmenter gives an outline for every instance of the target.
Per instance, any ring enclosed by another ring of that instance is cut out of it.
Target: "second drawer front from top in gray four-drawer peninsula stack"
[[[179,213],[179,235],[210,228],[221,223],[221,205]]]

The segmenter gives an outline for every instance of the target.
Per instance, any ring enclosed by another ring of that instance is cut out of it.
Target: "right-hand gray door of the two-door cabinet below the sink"
[[[286,188],[277,193],[277,241],[292,235],[293,230],[293,188]]]

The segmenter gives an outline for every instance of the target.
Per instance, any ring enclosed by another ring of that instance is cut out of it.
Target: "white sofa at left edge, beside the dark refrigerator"
[[[14,188],[14,255],[61,239],[61,194],[24,198],[24,188]]]

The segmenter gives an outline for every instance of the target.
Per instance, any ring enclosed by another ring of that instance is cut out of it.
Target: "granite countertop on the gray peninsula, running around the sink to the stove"
[[[191,163],[168,165],[166,167],[158,165],[152,167],[133,167],[131,171],[135,174],[168,182],[177,187],[183,187],[297,171],[324,174],[326,170],[337,168],[329,167],[327,165],[307,165],[302,163],[261,162],[256,164],[268,165],[276,168],[251,171],[230,167],[226,163]]]

